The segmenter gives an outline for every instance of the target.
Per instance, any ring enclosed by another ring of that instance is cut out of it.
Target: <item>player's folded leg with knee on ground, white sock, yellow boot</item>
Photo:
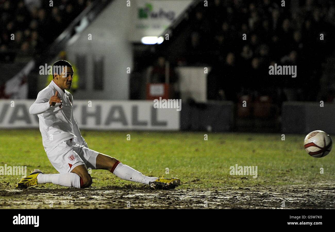
[[[53,183],[66,187],[85,188],[92,184],[92,178],[88,174],[85,165],[78,165],[73,168],[71,172],[59,174],[44,174],[41,170],[35,169],[31,172],[31,174],[23,177],[17,183],[16,188],[27,188],[43,183]]]

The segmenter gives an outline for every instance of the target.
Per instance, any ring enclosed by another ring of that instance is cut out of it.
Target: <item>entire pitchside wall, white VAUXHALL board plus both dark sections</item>
[[[29,114],[34,100],[0,100],[0,129],[38,128],[37,115]],[[230,101],[182,101],[175,108],[154,108],[148,100],[76,100],[74,117],[81,129],[139,131],[229,132],[235,123],[235,104]],[[334,103],[284,102],[282,133],[323,130],[335,134]]]

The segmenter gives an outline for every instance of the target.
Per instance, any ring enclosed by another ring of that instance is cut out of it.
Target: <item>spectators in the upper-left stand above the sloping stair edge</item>
[[[0,53],[14,53],[15,62],[28,61],[50,45],[91,4],[91,0],[60,2],[51,7],[50,1],[0,0]]]

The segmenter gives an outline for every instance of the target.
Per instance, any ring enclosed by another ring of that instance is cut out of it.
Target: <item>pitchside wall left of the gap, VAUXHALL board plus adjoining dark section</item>
[[[0,129],[39,128],[29,114],[34,100],[0,100]],[[175,108],[154,108],[152,101],[76,100],[74,117],[81,129],[139,131],[231,131],[234,104],[230,101],[182,101]]]

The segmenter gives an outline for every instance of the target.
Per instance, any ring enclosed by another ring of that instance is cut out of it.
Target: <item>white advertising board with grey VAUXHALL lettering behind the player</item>
[[[0,100],[0,128],[38,128],[39,118],[29,114],[32,103],[34,100]],[[153,101],[75,100],[74,117],[80,129],[180,129],[180,111],[154,108]]]

